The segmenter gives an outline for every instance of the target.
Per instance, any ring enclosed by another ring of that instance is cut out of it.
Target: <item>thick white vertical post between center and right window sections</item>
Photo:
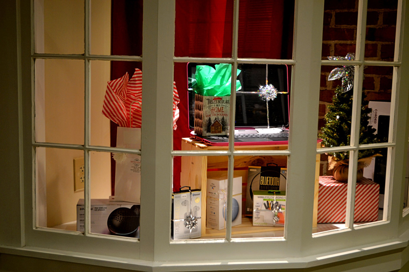
[[[296,1],[284,235],[291,252],[311,239],[324,0]],[[308,118],[306,117],[308,116]],[[315,116],[315,117],[314,117]]]

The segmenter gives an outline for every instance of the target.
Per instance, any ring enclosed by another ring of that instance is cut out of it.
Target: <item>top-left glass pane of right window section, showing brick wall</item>
[[[325,0],[322,58],[355,53],[357,1]]]

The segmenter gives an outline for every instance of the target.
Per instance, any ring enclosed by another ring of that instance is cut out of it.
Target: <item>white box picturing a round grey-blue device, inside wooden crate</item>
[[[241,224],[241,177],[233,178],[232,227]],[[207,180],[206,227],[226,228],[228,179],[220,177]]]

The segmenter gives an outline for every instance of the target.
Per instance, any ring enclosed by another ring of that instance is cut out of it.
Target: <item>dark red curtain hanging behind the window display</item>
[[[112,1],[111,54],[142,55],[142,0]],[[176,0],[175,56],[232,57],[233,0]],[[239,58],[291,59],[294,1],[240,0]],[[180,110],[173,148],[180,150],[181,138],[189,137],[187,63],[175,63],[174,81]],[[132,75],[140,63],[112,62],[111,79]],[[171,91],[171,90],[170,90]],[[111,146],[116,145],[116,124],[111,126]],[[173,162],[173,188],[180,187],[180,157]],[[112,190],[115,163],[112,166]],[[113,193],[113,191],[112,191]]]

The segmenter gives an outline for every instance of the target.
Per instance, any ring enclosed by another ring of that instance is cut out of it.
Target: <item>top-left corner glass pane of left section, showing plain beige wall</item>
[[[35,52],[84,53],[84,0],[34,1]]]

